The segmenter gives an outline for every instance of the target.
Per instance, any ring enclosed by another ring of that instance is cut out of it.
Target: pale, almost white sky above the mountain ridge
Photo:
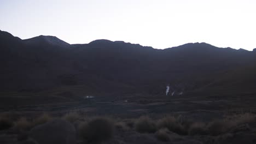
[[[256,0],[0,0],[0,29],[69,44],[123,40],[156,49],[205,42],[256,48]]]

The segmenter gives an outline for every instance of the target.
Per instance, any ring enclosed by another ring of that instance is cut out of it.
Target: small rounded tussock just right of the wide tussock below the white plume
[[[189,128],[189,135],[207,135],[205,123],[193,123]]]

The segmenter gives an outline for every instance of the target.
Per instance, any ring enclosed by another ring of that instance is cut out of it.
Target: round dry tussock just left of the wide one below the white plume
[[[136,120],[135,130],[139,133],[155,133],[156,125],[151,118],[141,116]]]

